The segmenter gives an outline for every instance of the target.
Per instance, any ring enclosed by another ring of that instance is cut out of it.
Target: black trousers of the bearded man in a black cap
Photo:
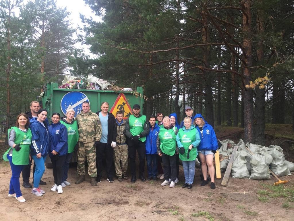
[[[146,153],[145,143],[141,141],[133,143],[130,139],[128,139],[128,154],[130,158],[132,176],[136,176],[136,151],[138,152],[139,156],[139,177],[143,177]]]

